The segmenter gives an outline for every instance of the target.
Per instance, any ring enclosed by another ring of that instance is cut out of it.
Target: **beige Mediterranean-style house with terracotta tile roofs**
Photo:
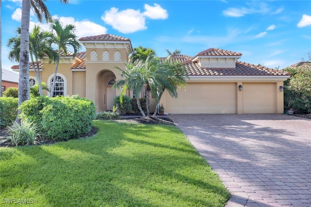
[[[62,54],[53,96],[79,95],[94,101],[97,111],[111,110],[113,98],[121,89],[113,89],[121,79],[120,70],[133,52],[130,39],[112,34],[82,37],[85,52]],[[173,55],[188,69],[186,89],[178,98],[163,94],[160,104],[168,113],[283,113],[283,81],[290,74],[264,66],[238,61],[242,54],[209,48],[196,56]],[[12,66],[18,71],[18,65]],[[48,57],[40,62],[42,81],[52,85],[55,65]],[[30,65],[30,83],[35,72]],[[47,93],[46,95],[52,96]],[[128,96],[135,96],[128,92]],[[155,100],[151,100],[151,109]]]

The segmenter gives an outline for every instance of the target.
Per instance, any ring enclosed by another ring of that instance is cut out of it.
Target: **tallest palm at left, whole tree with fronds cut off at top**
[[[18,80],[18,105],[30,98],[29,85],[29,23],[30,8],[33,7],[38,20],[42,21],[42,14],[47,21],[51,19],[45,0],[22,0],[21,11],[21,33],[20,33],[20,58],[19,58],[19,80]],[[68,0],[60,0],[68,3]],[[17,112],[17,123],[20,123]]]

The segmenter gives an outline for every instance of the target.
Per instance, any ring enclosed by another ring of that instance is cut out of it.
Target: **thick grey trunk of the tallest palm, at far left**
[[[30,0],[22,1],[20,55],[19,55],[19,80],[18,80],[18,105],[30,99],[29,91],[29,21]],[[16,122],[20,124],[17,112]]]

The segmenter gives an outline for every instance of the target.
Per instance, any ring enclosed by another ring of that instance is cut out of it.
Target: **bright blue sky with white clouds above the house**
[[[195,56],[208,48],[241,52],[239,60],[280,69],[308,60],[311,52],[310,0],[58,0],[46,2],[51,15],[76,25],[78,37],[116,34],[133,47],[166,49]],[[2,68],[10,69],[6,47],[20,27],[21,0],[1,0]],[[48,24],[34,25],[48,30]],[[81,51],[85,51],[83,48]]]

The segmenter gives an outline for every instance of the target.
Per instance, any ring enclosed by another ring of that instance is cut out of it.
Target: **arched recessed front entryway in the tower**
[[[110,111],[113,106],[113,98],[116,96],[116,89],[112,88],[116,76],[110,70],[104,70],[97,76],[97,111]]]

